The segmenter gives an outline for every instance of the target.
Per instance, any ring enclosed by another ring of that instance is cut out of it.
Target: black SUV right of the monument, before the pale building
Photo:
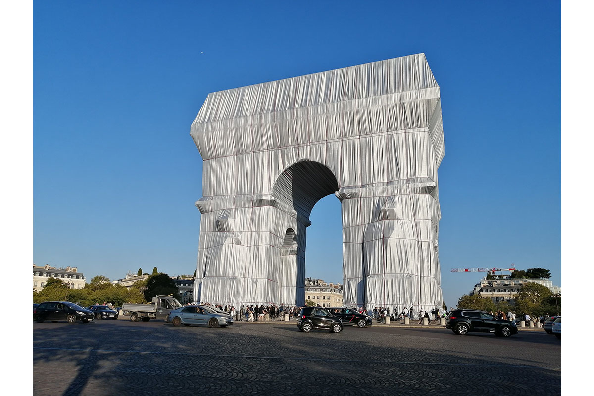
[[[509,337],[517,334],[518,328],[515,323],[497,319],[485,311],[476,309],[457,309],[451,311],[445,322],[445,327],[455,334],[466,335],[469,331],[492,332],[495,335]]]

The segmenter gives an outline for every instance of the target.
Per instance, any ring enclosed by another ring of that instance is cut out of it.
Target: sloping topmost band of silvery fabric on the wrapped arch
[[[208,94],[194,120],[210,123],[439,88],[424,53]],[[406,97],[403,98],[406,101]]]

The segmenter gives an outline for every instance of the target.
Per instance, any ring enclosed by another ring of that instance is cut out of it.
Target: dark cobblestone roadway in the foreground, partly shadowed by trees
[[[561,394],[561,341],[544,331],[162,321],[33,324],[35,395]]]

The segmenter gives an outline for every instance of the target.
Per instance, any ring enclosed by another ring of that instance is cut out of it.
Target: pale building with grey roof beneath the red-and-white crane
[[[487,297],[492,302],[510,302],[513,303],[516,294],[522,291],[522,287],[529,282],[538,283],[546,286],[553,294],[561,294],[561,287],[554,286],[549,279],[532,279],[532,278],[510,278],[506,276],[500,279],[482,278],[481,281],[475,284],[474,289],[469,293],[470,296],[478,294],[481,297]]]

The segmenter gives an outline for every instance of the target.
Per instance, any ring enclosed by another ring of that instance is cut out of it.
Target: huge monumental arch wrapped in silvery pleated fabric
[[[424,54],[208,94],[196,302],[304,305],[315,203],[342,203],[345,306],[441,307],[440,88]]]

